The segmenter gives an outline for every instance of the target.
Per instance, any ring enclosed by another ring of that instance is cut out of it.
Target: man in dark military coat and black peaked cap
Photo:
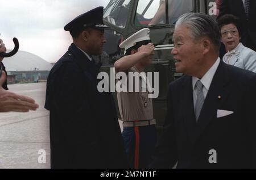
[[[47,80],[51,168],[127,168],[112,94],[97,90],[92,55],[106,42],[102,16],[97,7],[64,27],[73,43]]]

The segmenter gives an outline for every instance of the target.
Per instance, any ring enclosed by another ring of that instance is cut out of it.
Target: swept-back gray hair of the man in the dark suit
[[[183,24],[191,30],[193,39],[197,40],[200,37],[208,37],[216,46],[217,50],[220,48],[220,28],[218,28],[216,20],[211,16],[203,13],[188,12],[180,16],[175,27]]]

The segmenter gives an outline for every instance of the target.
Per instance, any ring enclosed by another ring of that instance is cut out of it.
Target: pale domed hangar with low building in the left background
[[[52,64],[43,58],[32,53],[19,51],[13,57],[4,58],[8,82],[38,82],[46,81],[49,71],[52,69]],[[11,83],[9,82],[9,83]]]

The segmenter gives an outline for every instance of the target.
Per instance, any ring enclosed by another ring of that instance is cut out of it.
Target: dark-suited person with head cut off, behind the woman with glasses
[[[224,0],[221,2],[218,18],[232,14],[241,20],[241,42],[245,47],[256,51],[256,1],[255,0]]]

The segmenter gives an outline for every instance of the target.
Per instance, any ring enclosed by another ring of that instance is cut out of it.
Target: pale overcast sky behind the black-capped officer
[[[56,62],[72,43],[65,24],[109,0],[0,0],[0,39],[7,49],[19,40],[21,51]]]

